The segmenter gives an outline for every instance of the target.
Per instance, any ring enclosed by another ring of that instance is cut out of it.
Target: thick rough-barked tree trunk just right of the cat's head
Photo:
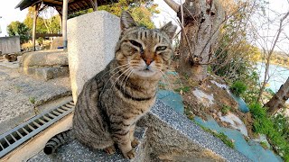
[[[182,19],[182,14],[178,12]],[[201,81],[207,76],[210,49],[219,34],[224,11],[218,0],[186,0],[183,4],[184,24],[180,45],[181,61],[178,71]]]

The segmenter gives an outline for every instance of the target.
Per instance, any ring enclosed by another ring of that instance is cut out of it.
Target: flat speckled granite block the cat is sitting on
[[[117,152],[114,155],[107,155],[103,150],[94,150],[87,148],[79,143],[77,140],[71,141],[69,144],[62,146],[58,149],[56,154],[47,156],[43,151],[39,152],[34,157],[30,158],[28,162],[52,162],[52,161],[98,161],[98,162],[125,162],[125,161],[146,161],[146,128],[136,127],[135,137],[139,139],[140,144],[135,148],[136,156],[132,160],[128,160],[120,153],[117,148]]]

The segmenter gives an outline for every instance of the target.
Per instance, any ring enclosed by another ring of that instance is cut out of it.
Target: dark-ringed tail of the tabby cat
[[[75,137],[72,133],[72,130],[62,131],[47,141],[43,151],[46,155],[51,155],[57,148],[61,147],[61,145],[69,143],[73,139],[75,139]]]

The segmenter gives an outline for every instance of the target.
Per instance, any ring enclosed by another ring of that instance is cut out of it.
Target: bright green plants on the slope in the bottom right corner
[[[269,118],[266,114],[266,109],[259,103],[252,103],[249,108],[254,119],[253,130],[256,133],[266,134],[270,144],[274,146],[277,153],[285,161],[289,161],[289,120],[281,114]]]

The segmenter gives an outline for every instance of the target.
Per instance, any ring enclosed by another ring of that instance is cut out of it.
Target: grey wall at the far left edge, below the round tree
[[[20,37],[0,37],[0,54],[20,52]]]

